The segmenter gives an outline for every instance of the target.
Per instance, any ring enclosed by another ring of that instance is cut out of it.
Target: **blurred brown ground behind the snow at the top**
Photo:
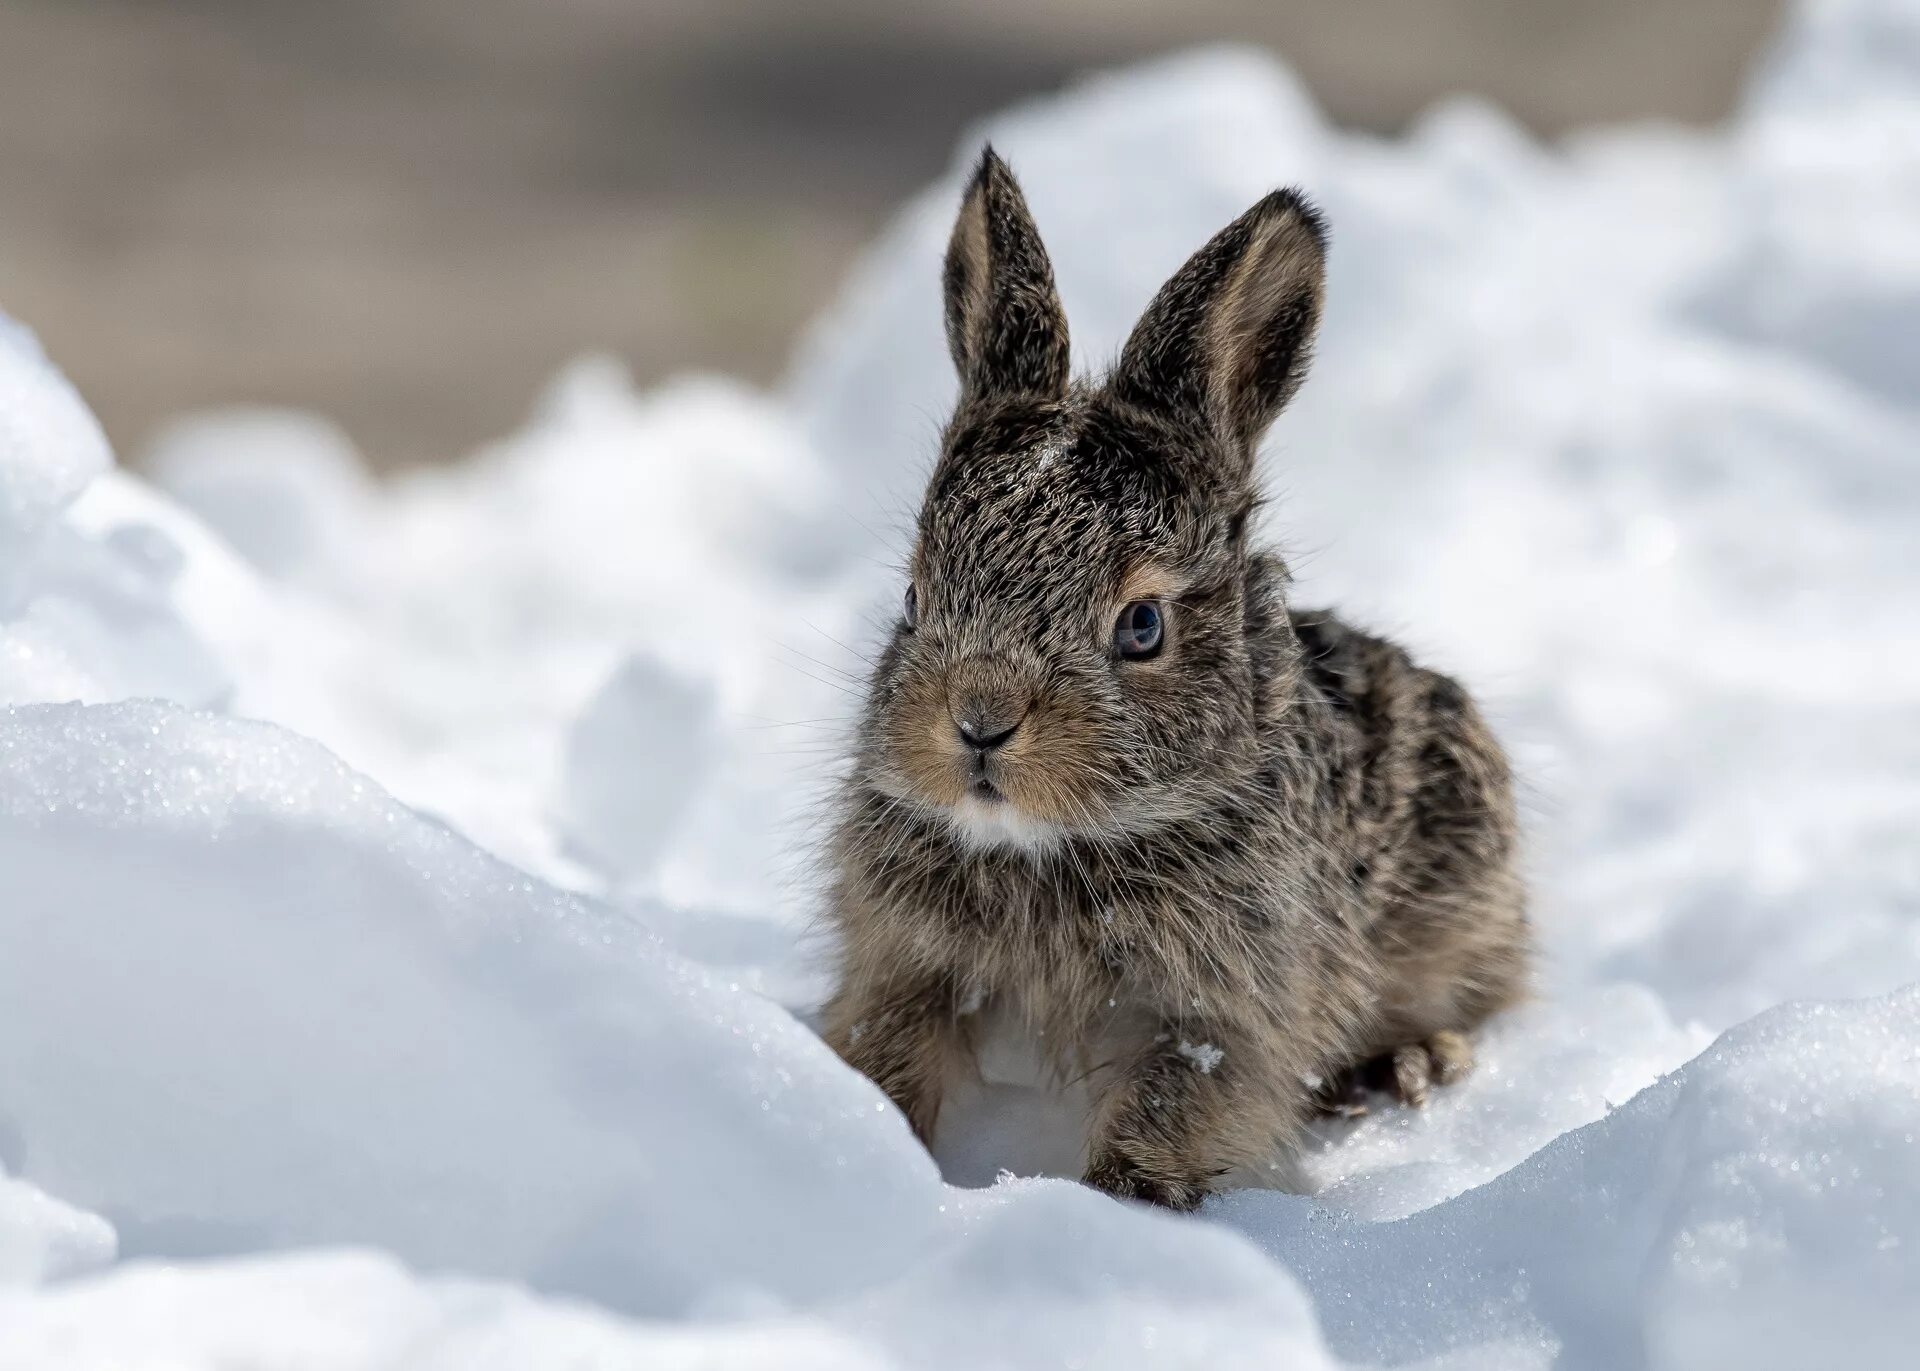
[[[209,403],[382,467],[505,432],[570,355],[778,374],[964,125],[1204,40],[1336,121],[1494,98],[1707,123],[1778,0],[0,0],[0,309],[123,453]]]

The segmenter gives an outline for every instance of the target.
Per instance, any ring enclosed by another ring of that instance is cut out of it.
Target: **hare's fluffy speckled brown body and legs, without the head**
[[[1185,1202],[1283,1156],[1315,1081],[1386,1058],[1419,1098],[1421,1048],[1521,993],[1511,793],[1471,701],[1325,614],[1267,636],[1261,760],[1190,824],[1033,860],[849,799],[828,1035],[925,1137],[998,1018],[1094,1102],[1083,1167],[1117,1148]]]

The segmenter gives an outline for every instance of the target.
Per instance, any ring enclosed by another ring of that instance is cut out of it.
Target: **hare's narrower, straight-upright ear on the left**
[[[1064,396],[1068,319],[1020,182],[979,157],[947,244],[947,346],[962,394]]]

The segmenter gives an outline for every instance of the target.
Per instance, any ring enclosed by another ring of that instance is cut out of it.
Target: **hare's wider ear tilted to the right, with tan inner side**
[[[1275,190],[1160,288],[1108,390],[1250,451],[1306,376],[1325,263],[1319,211]]]

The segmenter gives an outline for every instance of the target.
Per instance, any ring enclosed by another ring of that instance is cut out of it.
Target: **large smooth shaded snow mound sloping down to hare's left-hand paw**
[[[0,758],[6,1133],[129,1256],[378,1242],[680,1311],[927,1221],[931,1164],[791,1018],[305,739],[25,707]]]

